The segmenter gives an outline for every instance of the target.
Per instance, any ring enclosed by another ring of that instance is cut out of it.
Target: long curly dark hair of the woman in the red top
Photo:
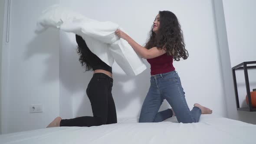
[[[183,32],[177,16],[170,11],[159,11],[159,15],[159,33],[156,34],[153,32],[153,25],[145,47],[147,49],[155,46],[158,49],[164,48],[167,55],[172,55],[176,61],[179,61],[181,58],[187,59],[188,52],[185,49]]]

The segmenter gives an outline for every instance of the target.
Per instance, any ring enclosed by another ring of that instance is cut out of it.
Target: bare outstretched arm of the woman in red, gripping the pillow
[[[166,53],[164,49],[158,49],[157,47],[153,47],[151,49],[144,48],[143,46],[136,43],[126,33],[122,32],[120,29],[118,29],[115,32],[115,34],[118,35],[120,38],[125,39],[131,45],[131,47],[135,50],[135,52],[137,52],[144,59],[152,59]]]

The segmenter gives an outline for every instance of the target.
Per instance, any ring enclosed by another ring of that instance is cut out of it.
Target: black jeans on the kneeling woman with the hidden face
[[[112,97],[113,79],[104,73],[95,73],[86,93],[92,105],[91,116],[63,119],[60,126],[90,127],[117,123],[115,102]]]

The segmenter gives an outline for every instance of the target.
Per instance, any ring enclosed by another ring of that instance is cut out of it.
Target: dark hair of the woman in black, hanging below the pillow
[[[76,43],[78,44],[76,52],[79,54],[79,62],[83,67],[85,67],[85,72],[86,71],[92,71],[92,65],[89,61],[89,57],[85,56],[85,53],[88,53],[89,48],[85,43],[85,40],[79,36],[75,35]]]

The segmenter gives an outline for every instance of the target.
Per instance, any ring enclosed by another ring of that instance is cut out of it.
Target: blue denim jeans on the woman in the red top
[[[144,99],[139,122],[160,122],[172,117],[171,109],[158,112],[164,99],[171,105],[178,122],[198,122],[201,110],[194,107],[191,111],[187,106],[185,92],[176,71],[153,75],[150,88]]]

